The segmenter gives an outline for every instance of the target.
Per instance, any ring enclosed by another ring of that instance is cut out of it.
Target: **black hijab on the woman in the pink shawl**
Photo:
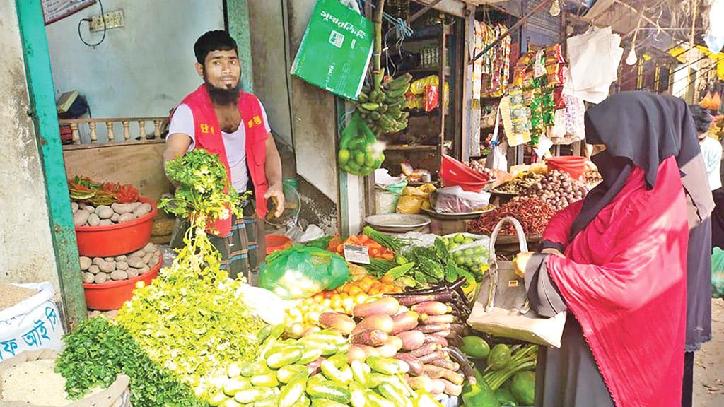
[[[586,196],[581,212],[573,220],[571,240],[613,201],[626,185],[633,167],[644,169],[650,189],[656,184],[662,161],[675,156],[683,170],[701,153],[689,106],[681,98],[649,92],[616,93],[588,109],[584,122],[586,143],[604,144],[607,150],[592,158],[603,182]],[[698,169],[699,163],[695,164]],[[710,194],[704,195],[701,179],[687,182],[684,171],[682,177],[691,201],[702,212],[702,208],[709,206],[706,200],[711,200]],[[706,186],[706,180],[703,181]]]

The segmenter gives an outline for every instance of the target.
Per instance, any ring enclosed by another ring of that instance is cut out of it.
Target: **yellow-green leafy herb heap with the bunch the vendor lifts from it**
[[[152,285],[139,282],[117,321],[153,361],[206,395],[219,369],[256,358],[264,327],[243,303],[239,288],[245,282],[219,268],[221,255],[205,232],[209,220],[241,216],[245,196],[229,184],[219,158],[203,150],[169,162],[167,173],[178,186],[160,206],[190,219],[185,246]]]

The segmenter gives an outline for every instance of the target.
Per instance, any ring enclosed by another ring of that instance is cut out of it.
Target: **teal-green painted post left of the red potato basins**
[[[80,275],[75,226],[60,142],[55,88],[40,0],[16,0],[25,75],[32,106],[38,154],[46,181],[48,214],[66,322],[74,327],[87,315]]]

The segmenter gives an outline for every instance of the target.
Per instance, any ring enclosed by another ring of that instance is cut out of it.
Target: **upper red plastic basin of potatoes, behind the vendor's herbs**
[[[151,240],[153,218],[159,212],[156,202],[140,198],[151,204],[151,212],[130,222],[106,226],[75,227],[78,253],[86,257],[112,257],[137,251]]]

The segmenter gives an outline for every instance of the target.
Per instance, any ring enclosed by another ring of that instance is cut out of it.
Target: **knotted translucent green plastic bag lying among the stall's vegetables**
[[[266,257],[259,287],[290,300],[337,288],[349,278],[349,267],[340,255],[313,246],[293,246]]]

